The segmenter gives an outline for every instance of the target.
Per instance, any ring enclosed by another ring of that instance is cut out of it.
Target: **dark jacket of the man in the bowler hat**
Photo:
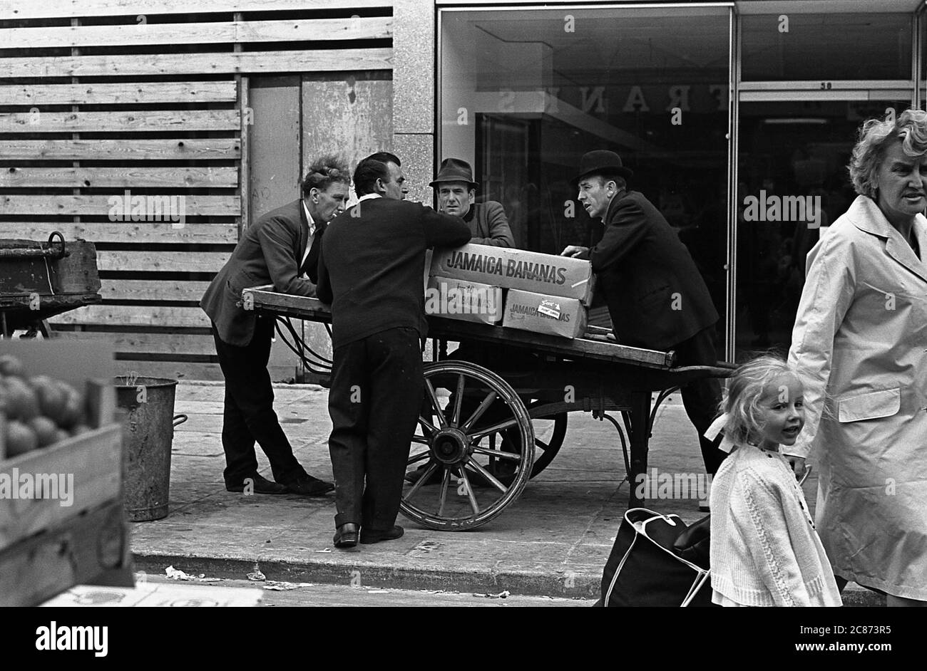
[[[588,255],[618,342],[670,350],[717,322],[717,310],[676,230],[643,194],[608,205],[602,241]]]

